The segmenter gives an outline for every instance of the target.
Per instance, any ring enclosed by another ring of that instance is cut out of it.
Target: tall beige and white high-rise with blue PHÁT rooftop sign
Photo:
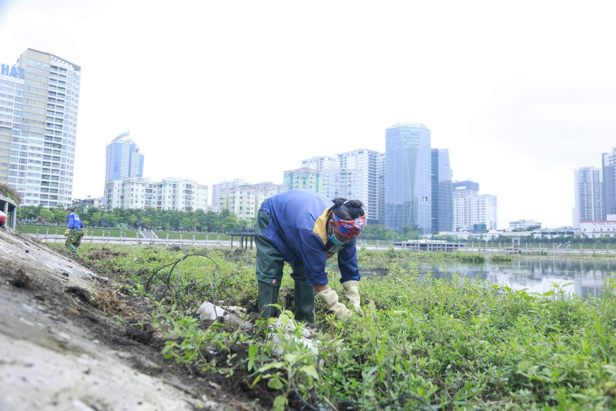
[[[17,189],[24,205],[71,205],[81,67],[26,49],[16,65],[0,65],[0,77],[6,95],[0,107],[13,110],[9,186]],[[0,142],[6,143],[10,112],[0,112],[5,115]],[[6,145],[0,149],[6,150]],[[0,157],[6,152],[0,151]],[[7,161],[0,160],[1,178]]]

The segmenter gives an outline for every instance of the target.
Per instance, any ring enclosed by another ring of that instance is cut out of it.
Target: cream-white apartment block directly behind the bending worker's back
[[[263,201],[286,190],[288,190],[286,185],[272,182],[232,187],[221,191],[219,208],[220,210],[227,208],[239,219],[256,219],[257,211]]]

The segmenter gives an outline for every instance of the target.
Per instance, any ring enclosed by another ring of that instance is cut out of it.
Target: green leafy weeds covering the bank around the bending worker
[[[362,314],[336,320],[317,301],[311,351],[299,340],[272,338],[293,324],[290,275],[280,291],[282,325],[256,319],[254,253],[91,244],[80,252],[124,293],[150,304],[151,318],[141,326],[163,341],[161,356],[246,391],[264,409],[616,407],[613,292],[588,301],[560,288],[534,295],[419,276],[413,265],[390,262],[386,277],[360,282]],[[159,270],[185,253],[211,260],[195,256],[176,271]],[[369,256],[362,251],[360,264]],[[330,271],[346,301],[339,274]],[[606,288],[614,290],[614,282]],[[211,298],[244,307],[252,330],[198,320],[195,310]]]

